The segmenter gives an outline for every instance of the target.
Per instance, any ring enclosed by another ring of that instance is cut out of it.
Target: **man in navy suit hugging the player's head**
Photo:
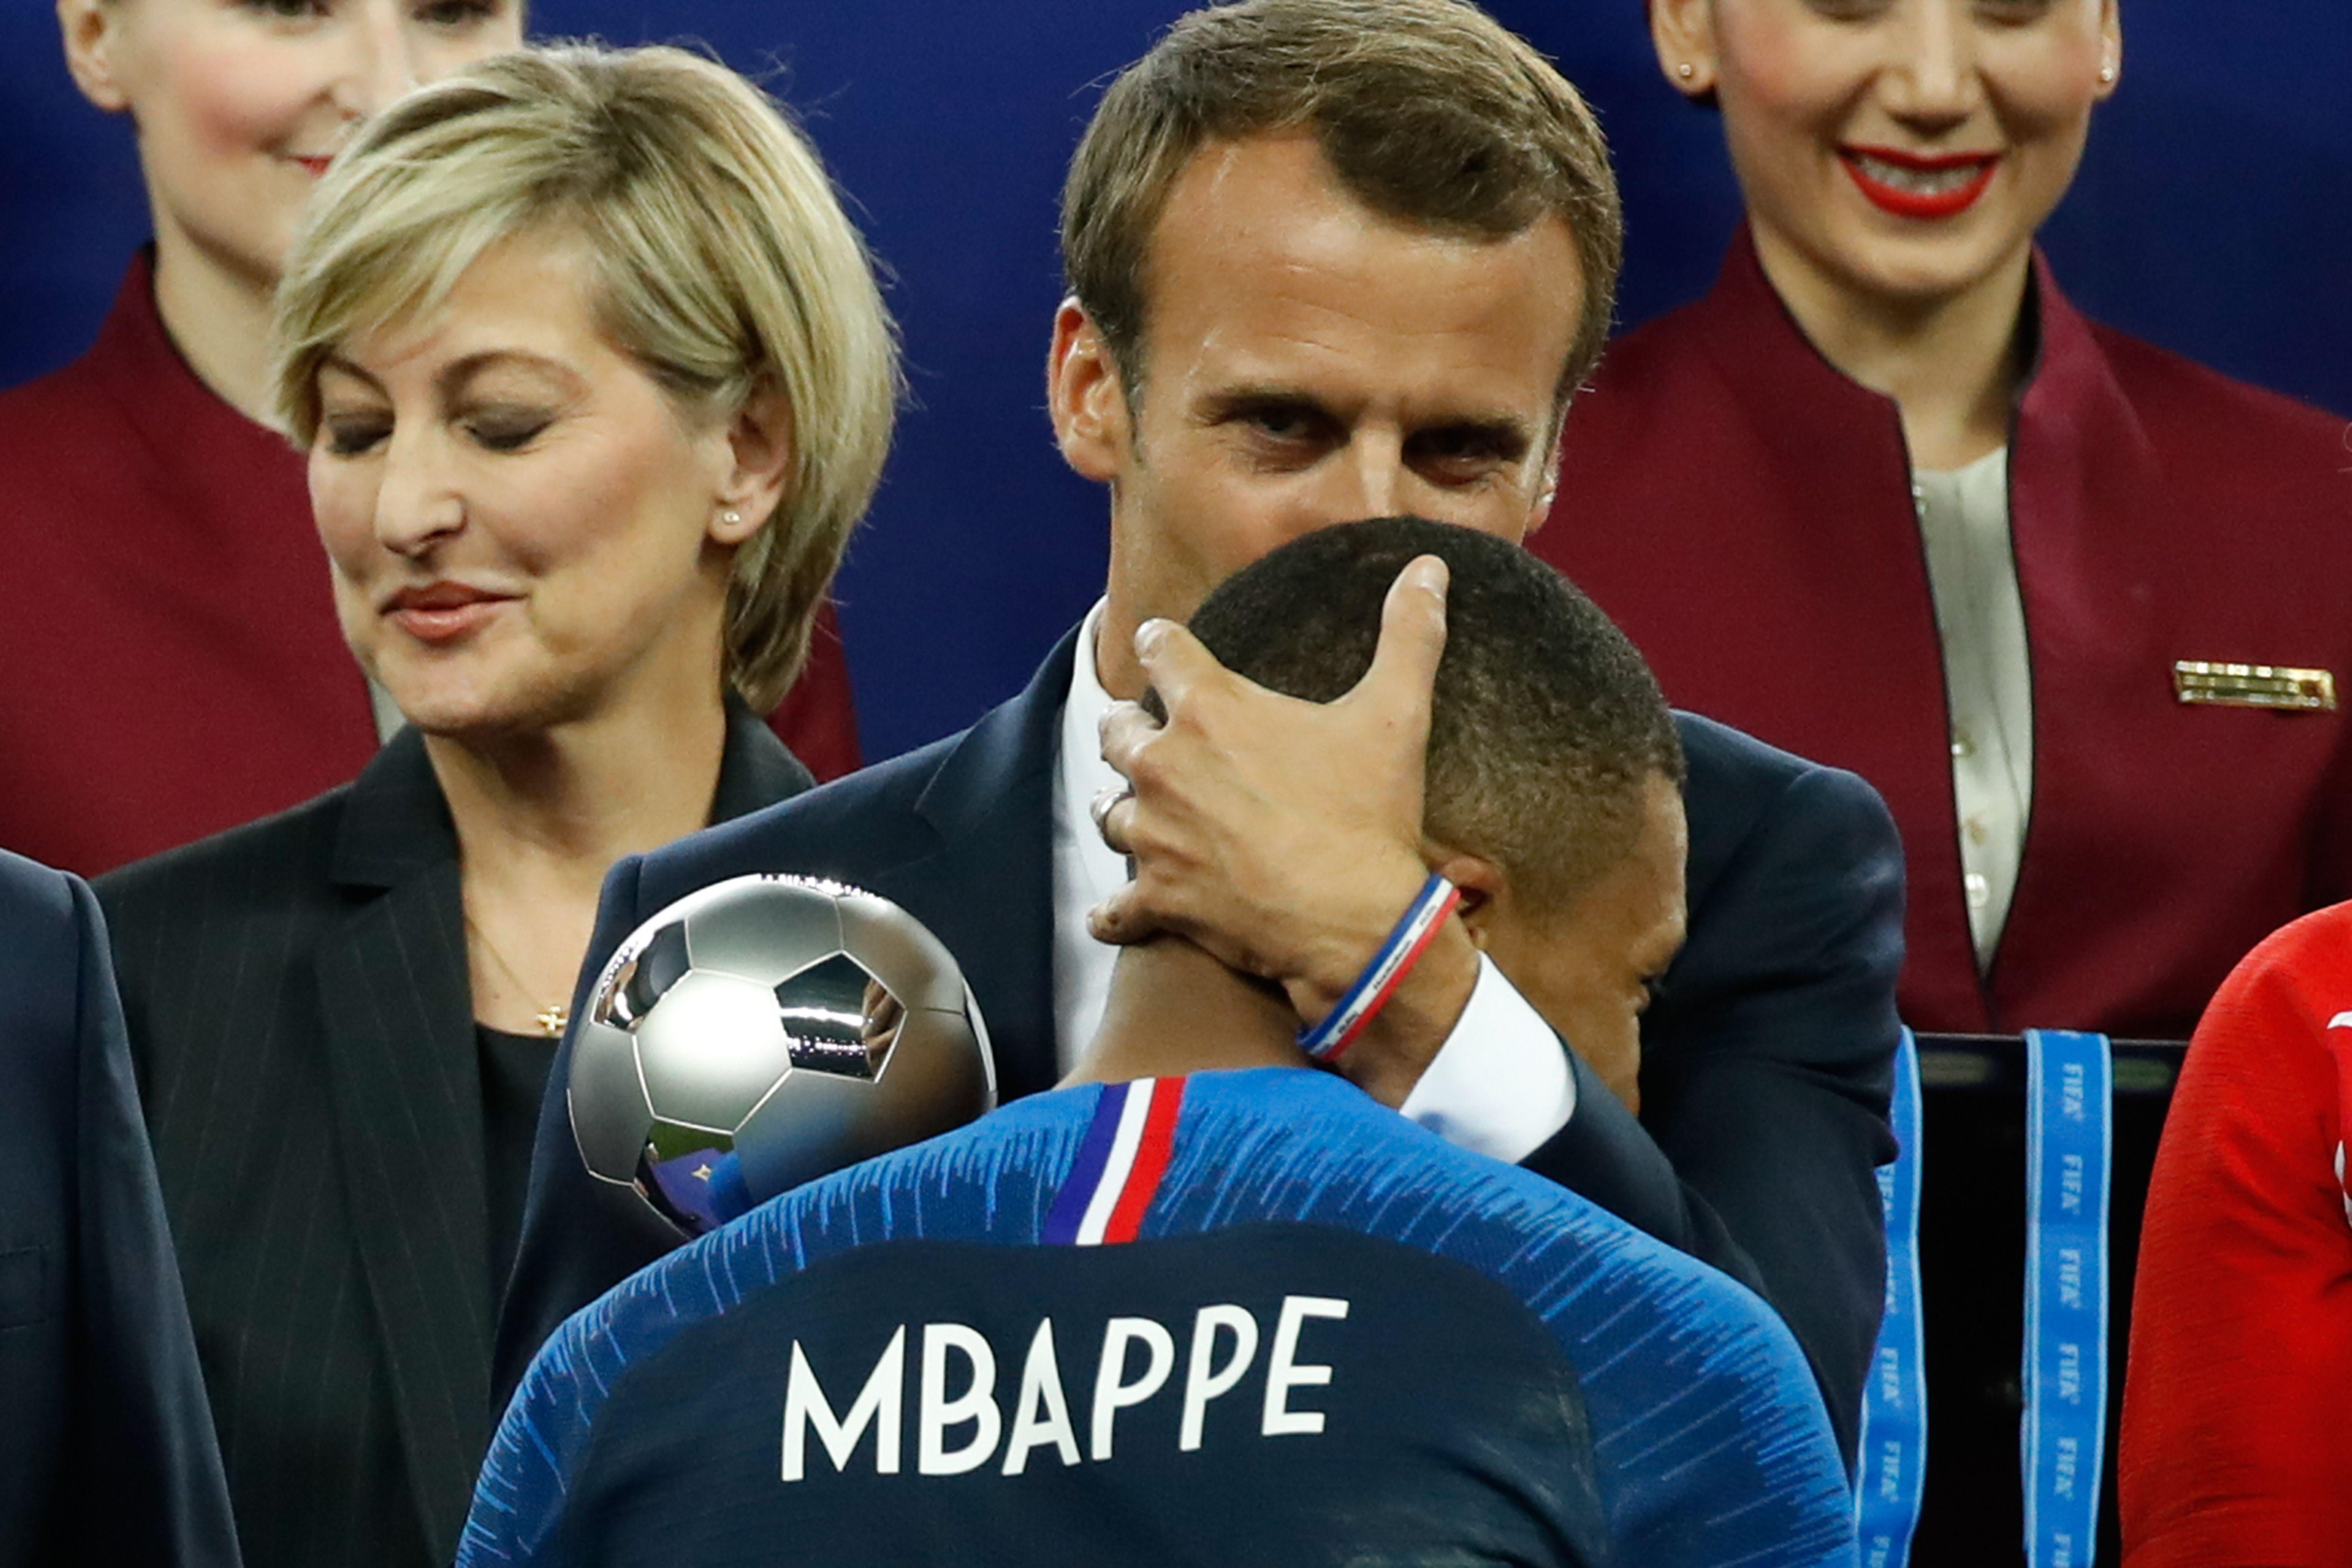
[[[1122,759],[1148,750],[1136,715],[1115,710],[1145,686],[1136,632],[1334,522],[1418,512],[1522,538],[1550,505],[1566,395],[1606,336],[1618,209],[1581,99],[1479,12],[1251,0],[1183,19],[1105,94],[1073,162],[1063,256],[1073,296],[1049,397],[1065,458],[1110,487],[1103,604],[971,731],[621,863],[583,985],[696,886],[753,870],[842,877],[955,950],[1004,1095],[1047,1088],[1091,1037],[1115,952],[1087,917],[1124,865],[1087,806],[1122,785],[1101,755],[1105,717]],[[1181,649],[1162,628],[1143,642]],[[1308,715],[1235,701],[1223,738],[1240,741],[1185,750],[1202,726],[1178,701],[1178,745],[1160,748],[1169,762],[1145,769],[1145,799],[1115,827],[1152,851],[1176,842],[1155,823],[1195,816],[1190,844],[1225,853],[1214,879],[1258,896],[1188,917],[1148,853],[1157,903],[1120,905],[1127,929],[1110,933],[1178,926],[1319,1018],[1421,879],[1414,703],[1425,724],[1425,686],[1402,705]],[[1270,729],[1301,722],[1310,745]],[[1806,1347],[1851,1460],[1884,1291],[1872,1166],[1893,1154],[1893,825],[1846,773],[1705,719],[1684,717],[1682,736],[1689,943],[1637,1065],[1562,1051],[1451,931],[1345,1070],[1449,1140],[1576,1187],[1757,1288]],[[1251,773],[1258,750],[1277,766]],[[1251,790],[1214,788],[1204,759],[1218,752],[1228,783],[1263,785],[1256,804],[1301,804],[1237,809]],[[1639,1121],[1611,1093],[1632,1098],[1635,1079]],[[628,1194],[586,1175],[553,1093],[501,1387],[567,1312],[668,1246]]]

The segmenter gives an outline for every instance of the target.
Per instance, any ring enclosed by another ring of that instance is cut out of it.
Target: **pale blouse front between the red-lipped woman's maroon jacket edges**
[[[1943,642],[1959,870],[1983,971],[2009,924],[2034,799],[2034,684],[2009,538],[2009,449],[1950,473],[1917,470],[1912,498]]]

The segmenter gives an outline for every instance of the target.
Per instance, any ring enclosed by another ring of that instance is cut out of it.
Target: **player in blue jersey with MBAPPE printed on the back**
[[[1573,954],[1569,1011],[1632,1030],[1682,926],[1682,764],[1590,602],[1503,541],[1388,520],[1263,557],[1192,630],[1329,701],[1425,555],[1451,630],[1416,910],[1541,936]],[[564,1324],[459,1561],[1853,1561],[1825,1408],[1762,1300],[1383,1110],[1294,1027],[1185,940],[1124,952],[1063,1088]]]

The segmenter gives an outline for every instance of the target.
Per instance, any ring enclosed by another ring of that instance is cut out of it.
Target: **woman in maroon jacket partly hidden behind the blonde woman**
[[[96,875],[292,806],[376,750],[303,461],[266,425],[268,303],[350,127],[522,40],[522,0],[64,0],[139,134],[155,244],[99,339],[0,393],[0,846]],[[388,712],[388,710],[386,710]],[[774,719],[856,766],[840,639]]]

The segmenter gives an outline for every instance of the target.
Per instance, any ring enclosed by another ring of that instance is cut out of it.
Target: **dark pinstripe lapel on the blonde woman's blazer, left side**
[[[407,731],[353,785],[318,947],[353,1234],[426,1540],[456,1556],[489,1429],[489,1197],[456,835]]]

